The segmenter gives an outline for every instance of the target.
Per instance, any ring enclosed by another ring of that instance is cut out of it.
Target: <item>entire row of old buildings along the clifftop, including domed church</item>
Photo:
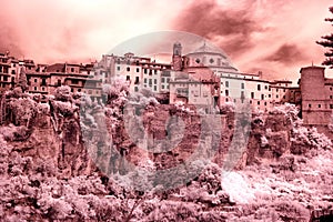
[[[167,95],[169,103],[182,101],[215,108],[249,103],[253,110],[271,110],[289,102],[301,105],[302,118],[309,125],[327,124],[333,110],[333,79],[324,77],[324,68],[302,68],[300,87],[292,87],[289,80],[264,80],[261,72],[239,72],[223,51],[206,43],[183,56],[181,43],[175,42],[170,63],[125,53],[104,54],[91,64],[48,65],[0,53],[0,88],[13,89],[22,68],[30,93],[52,94],[58,87],[69,85],[72,92],[99,100],[103,84],[121,75],[131,91],[150,89],[157,95]]]

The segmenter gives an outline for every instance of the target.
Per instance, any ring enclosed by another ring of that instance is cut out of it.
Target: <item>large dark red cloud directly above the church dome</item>
[[[241,9],[222,7],[216,1],[195,1],[174,20],[174,28],[218,43],[226,53],[238,56],[254,46],[252,33],[264,31],[251,16],[253,1]]]

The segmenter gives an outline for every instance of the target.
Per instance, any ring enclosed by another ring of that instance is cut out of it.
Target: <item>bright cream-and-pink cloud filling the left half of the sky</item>
[[[38,62],[88,62],[119,42],[154,31],[170,11],[165,1],[0,1],[0,50]],[[163,22],[162,22],[163,21]]]

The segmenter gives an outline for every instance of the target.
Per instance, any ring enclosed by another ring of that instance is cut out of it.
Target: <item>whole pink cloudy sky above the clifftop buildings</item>
[[[241,72],[295,82],[301,67],[324,60],[325,49],[315,41],[333,32],[324,21],[333,17],[330,6],[331,0],[2,0],[0,51],[38,63],[84,63],[138,36],[176,30],[208,39]]]

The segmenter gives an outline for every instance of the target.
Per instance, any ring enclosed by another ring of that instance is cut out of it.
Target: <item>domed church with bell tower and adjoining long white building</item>
[[[173,53],[176,53],[172,57],[173,68],[181,72],[173,71],[170,103],[183,101],[216,107],[230,102],[249,103],[253,110],[271,110],[276,104],[301,102],[301,91],[292,87],[291,81],[264,80],[261,72],[241,73],[219,49],[204,43],[193,52],[181,56],[181,44],[175,43],[173,48]],[[198,93],[192,89],[194,82],[208,88],[212,100],[206,100],[205,93]]]

